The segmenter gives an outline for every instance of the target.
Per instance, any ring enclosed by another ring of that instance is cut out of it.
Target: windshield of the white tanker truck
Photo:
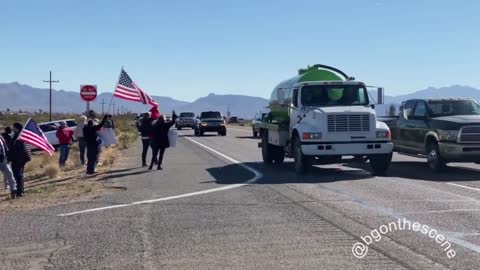
[[[368,105],[367,89],[363,85],[308,85],[302,87],[304,106]]]

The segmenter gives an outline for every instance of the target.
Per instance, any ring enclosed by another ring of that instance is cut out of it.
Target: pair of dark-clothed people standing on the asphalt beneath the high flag
[[[158,118],[157,118],[158,117]],[[142,137],[142,166],[153,169],[157,164],[157,170],[162,170],[165,150],[170,147],[168,131],[175,124],[177,115],[172,112],[172,120],[167,121],[165,115],[155,116],[155,112],[144,113],[137,128]],[[152,159],[147,165],[147,152],[152,148]]]

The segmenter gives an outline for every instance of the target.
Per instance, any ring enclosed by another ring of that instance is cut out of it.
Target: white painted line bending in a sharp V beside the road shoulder
[[[191,193],[186,193],[186,194],[180,194],[180,195],[175,195],[175,196],[169,196],[169,197],[163,197],[163,198],[158,198],[158,199],[152,199],[152,200],[145,200],[145,201],[137,201],[137,202],[133,202],[133,203],[126,203],[126,204],[119,204],[119,205],[111,205],[111,206],[105,206],[105,207],[98,207],[98,208],[92,208],[92,209],[86,209],[86,210],[81,210],[81,211],[76,211],[76,212],[71,212],[71,213],[65,213],[65,214],[59,214],[57,215],[58,217],[68,217],[68,216],[73,216],[73,215],[78,215],[78,214],[84,214],[84,213],[90,213],[90,212],[97,212],[97,211],[103,211],[103,210],[108,210],[108,209],[114,209],[114,208],[121,208],[121,207],[128,207],[128,206],[133,206],[133,205],[139,205],[139,204],[148,204],[148,203],[155,203],[155,202],[161,202],[161,201],[168,201],[168,200],[175,200],[175,199],[180,199],[180,198],[185,198],[185,197],[191,197],[191,196],[197,196],[197,195],[203,195],[203,194],[208,194],[208,193],[212,193],[212,192],[217,192],[217,191],[224,191],[224,190],[229,190],[229,189],[234,189],[234,188],[237,188],[237,187],[242,187],[242,186],[245,186],[245,185],[249,185],[249,184],[252,184],[252,183],[255,183],[256,181],[258,181],[258,179],[262,178],[263,174],[259,171],[257,171],[256,169],[248,166],[248,165],[245,165],[243,163],[241,163],[240,161],[234,159],[234,158],[231,158],[213,148],[210,148],[202,143],[199,143],[191,138],[188,138],[188,137],[183,137],[185,139],[187,139],[188,141],[192,142],[192,143],[195,143],[205,149],[207,149],[208,151],[228,160],[229,162],[233,163],[233,164],[237,164],[239,166],[241,166],[242,168],[245,168],[249,171],[251,171],[253,174],[255,174],[255,176],[244,182],[244,183],[241,183],[241,184],[234,184],[234,185],[228,185],[228,186],[223,186],[223,187],[218,187],[218,188],[212,188],[212,189],[207,189],[207,190],[202,190],[202,191],[197,191],[197,192],[191,192]]]

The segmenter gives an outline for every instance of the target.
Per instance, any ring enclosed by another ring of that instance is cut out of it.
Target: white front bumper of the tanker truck
[[[302,144],[302,152],[307,156],[350,156],[390,154],[392,142],[356,142],[356,143],[308,143]]]

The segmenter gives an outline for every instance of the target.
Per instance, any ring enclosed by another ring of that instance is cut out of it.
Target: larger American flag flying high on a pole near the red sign
[[[125,72],[123,68],[122,72],[120,73],[120,78],[118,79],[117,87],[115,88],[115,93],[113,95],[121,99],[158,106],[158,103],[156,103],[150,95],[145,93],[132,81],[130,76],[128,76],[127,72]]]

